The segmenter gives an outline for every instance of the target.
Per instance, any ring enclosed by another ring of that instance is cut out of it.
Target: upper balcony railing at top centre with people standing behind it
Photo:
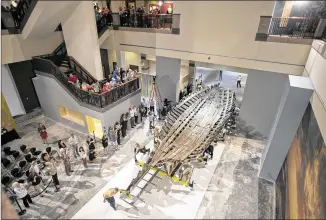
[[[180,14],[134,14],[126,16],[126,14],[110,13],[103,15],[96,23],[99,37],[109,26],[172,29],[173,31],[179,30]]]

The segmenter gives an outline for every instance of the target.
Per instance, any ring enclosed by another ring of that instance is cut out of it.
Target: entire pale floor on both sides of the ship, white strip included
[[[9,143],[18,148],[22,143],[40,150],[46,146],[37,133],[37,124],[48,128],[50,146],[56,148],[59,139],[67,140],[70,129],[35,111],[32,116],[16,119],[22,139]],[[148,121],[128,133],[118,150],[108,156],[97,143],[100,157],[88,169],[73,161],[73,175],[66,176],[59,166],[61,191],[49,186],[44,197],[35,197],[24,218],[91,219],[91,218],[274,218],[274,186],[258,178],[260,157],[265,138],[245,121],[224,142],[217,143],[214,158],[207,166],[196,165],[194,187],[189,189],[163,176],[154,178],[139,199],[129,205],[116,196],[117,211],[103,203],[103,191],[111,187],[125,188],[136,170],[133,145],[138,142],[151,148],[152,135]],[[86,135],[77,133],[80,142]],[[155,185],[154,185],[155,184]],[[133,198],[134,199],[134,198]]]

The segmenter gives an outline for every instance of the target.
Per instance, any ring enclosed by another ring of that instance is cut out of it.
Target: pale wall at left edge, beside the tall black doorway
[[[12,116],[26,114],[8,65],[1,65],[1,92]]]

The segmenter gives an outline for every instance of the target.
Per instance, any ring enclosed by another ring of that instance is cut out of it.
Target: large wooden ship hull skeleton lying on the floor
[[[184,164],[201,155],[231,117],[234,100],[233,91],[219,86],[202,89],[181,100],[167,115],[152,157],[143,164],[128,191],[152,168],[173,177]]]

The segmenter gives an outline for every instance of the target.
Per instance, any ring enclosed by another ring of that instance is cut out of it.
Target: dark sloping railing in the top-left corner
[[[20,0],[14,11],[2,11],[1,21],[9,34],[19,34],[23,30],[38,0]]]

